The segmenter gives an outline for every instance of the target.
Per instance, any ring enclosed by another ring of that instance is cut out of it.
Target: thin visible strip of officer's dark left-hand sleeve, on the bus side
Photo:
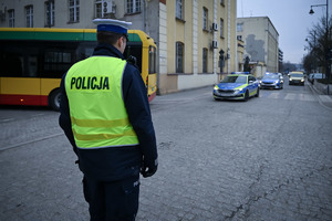
[[[65,74],[62,76],[61,84],[60,84],[61,99],[60,99],[59,125],[63,129],[63,131],[64,131],[65,136],[68,137],[68,139],[70,140],[71,145],[73,146],[73,150],[75,151],[75,154],[77,154],[74,135],[72,131],[72,123],[71,123],[71,116],[70,116],[68,96],[66,96],[65,87],[64,87],[64,80],[65,80]]]

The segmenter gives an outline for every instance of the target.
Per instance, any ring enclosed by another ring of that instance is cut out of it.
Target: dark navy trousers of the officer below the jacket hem
[[[134,221],[138,210],[139,175],[104,182],[83,178],[91,221]]]

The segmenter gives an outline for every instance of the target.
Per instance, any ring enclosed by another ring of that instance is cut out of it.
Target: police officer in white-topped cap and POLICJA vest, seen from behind
[[[96,19],[97,46],[61,82],[60,126],[79,158],[91,221],[135,220],[139,172],[157,170],[147,92],[124,60],[131,22]]]

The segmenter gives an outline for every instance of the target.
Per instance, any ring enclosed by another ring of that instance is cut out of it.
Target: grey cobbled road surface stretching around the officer
[[[210,86],[151,108],[159,169],[141,180],[137,221],[332,220],[331,97],[286,84],[216,102]],[[89,220],[58,117],[0,107],[0,220]]]

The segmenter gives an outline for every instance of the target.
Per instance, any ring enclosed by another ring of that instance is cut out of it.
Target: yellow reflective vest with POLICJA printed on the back
[[[66,73],[65,92],[79,148],[138,145],[123,101],[125,65],[117,57],[91,56]]]

